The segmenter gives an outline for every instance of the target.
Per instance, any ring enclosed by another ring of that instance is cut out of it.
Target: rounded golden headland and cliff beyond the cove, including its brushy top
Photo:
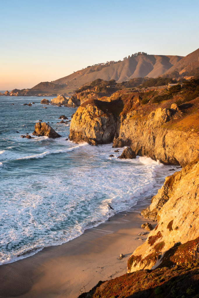
[[[158,105],[150,103],[151,99],[158,96],[164,99],[168,95],[165,90],[157,92],[122,90],[112,94],[108,98],[110,102],[88,100],[71,120],[70,140],[92,144],[113,141],[113,147],[130,145],[136,155],[146,155],[165,164],[188,164],[199,157],[199,98],[179,107],[174,104],[176,97]],[[143,105],[147,95],[149,103]]]

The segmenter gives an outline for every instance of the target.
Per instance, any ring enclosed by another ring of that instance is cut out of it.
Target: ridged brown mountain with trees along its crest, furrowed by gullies
[[[53,81],[54,84],[68,84],[77,89],[87,82],[98,78],[115,80],[117,83],[128,81],[135,77],[158,77],[174,66],[181,56],[138,55],[121,62],[90,66],[71,75]]]

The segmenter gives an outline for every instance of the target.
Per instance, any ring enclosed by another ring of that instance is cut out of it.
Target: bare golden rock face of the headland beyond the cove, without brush
[[[74,141],[95,139],[98,144],[113,141],[114,148],[130,146],[136,155],[146,155],[164,164],[185,166],[199,157],[197,133],[166,127],[166,125],[172,127],[173,121],[181,119],[183,112],[178,111],[177,105],[173,105],[172,108],[159,107],[148,114],[142,114],[139,108],[133,109],[135,104],[138,107],[140,105],[137,95],[135,101],[131,100],[130,103],[120,101],[121,106],[118,100],[111,102],[89,100],[83,103],[72,118],[70,139]],[[194,104],[197,108],[198,99]],[[94,106],[96,113],[92,109]],[[155,107],[156,105],[153,106]],[[104,118],[100,121],[104,115],[106,120]],[[97,130],[100,133],[97,133]],[[106,133],[109,137],[105,136]]]

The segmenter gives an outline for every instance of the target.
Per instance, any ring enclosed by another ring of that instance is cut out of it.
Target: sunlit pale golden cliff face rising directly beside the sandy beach
[[[165,195],[164,204],[161,193]],[[188,243],[189,249],[186,251],[184,246],[184,254],[191,251],[192,259],[199,256],[199,159],[167,177],[156,196],[151,205],[157,207],[151,208],[156,212],[162,205],[157,214],[158,224],[129,258],[128,272],[160,266],[163,256],[169,255],[170,249],[176,250],[179,243]],[[177,262],[183,262],[183,258],[178,256]]]

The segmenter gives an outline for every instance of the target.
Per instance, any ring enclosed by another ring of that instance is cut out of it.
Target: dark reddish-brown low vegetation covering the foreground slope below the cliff
[[[154,270],[135,271],[109,281],[100,281],[78,298],[198,298],[199,260],[195,260],[193,255],[198,241],[199,237],[184,244],[175,244]],[[162,249],[164,243],[158,245],[157,250]],[[155,255],[158,252],[150,257]],[[139,257],[133,257],[132,263]]]

